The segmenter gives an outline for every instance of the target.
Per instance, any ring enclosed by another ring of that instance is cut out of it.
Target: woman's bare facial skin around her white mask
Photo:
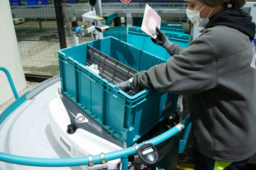
[[[200,11],[205,5],[204,3],[202,3],[199,0],[186,0],[186,1],[188,3],[188,9],[194,10],[194,11]],[[212,9],[213,9],[213,7],[210,7],[210,6],[206,5],[200,11],[200,17],[201,18],[206,18],[209,15],[209,13],[211,12]],[[211,16],[213,16],[213,14],[214,14],[214,10],[208,18],[211,18]]]

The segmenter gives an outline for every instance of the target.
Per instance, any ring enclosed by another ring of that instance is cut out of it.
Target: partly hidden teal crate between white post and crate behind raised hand
[[[108,36],[112,36],[126,42],[127,40],[126,26],[109,27],[108,31],[105,31],[103,33],[103,37],[108,37]]]

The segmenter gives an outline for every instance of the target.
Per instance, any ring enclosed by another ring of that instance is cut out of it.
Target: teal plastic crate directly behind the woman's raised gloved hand
[[[179,44],[180,47],[188,47],[190,35],[166,30],[162,31],[171,42]],[[126,42],[165,60],[171,57],[163,47],[154,44],[151,41],[151,37],[144,33],[144,31],[141,30],[141,27],[129,27]]]

